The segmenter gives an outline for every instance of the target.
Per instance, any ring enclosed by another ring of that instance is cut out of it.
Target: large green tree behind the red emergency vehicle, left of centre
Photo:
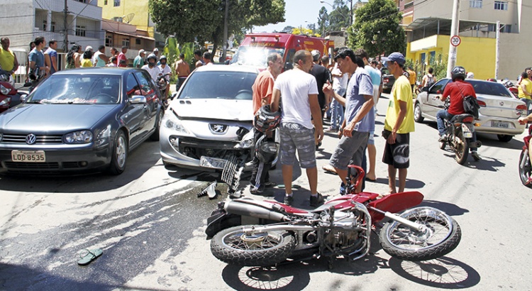
[[[160,33],[174,35],[179,43],[209,40],[216,52],[223,45],[226,1],[229,35],[284,21],[284,0],[150,0],[150,15]]]

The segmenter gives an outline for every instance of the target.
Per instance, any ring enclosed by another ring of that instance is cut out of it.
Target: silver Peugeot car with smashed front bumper
[[[199,67],[170,102],[160,129],[162,163],[222,170],[228,160],[253,158],[253,93],[258,70]]]

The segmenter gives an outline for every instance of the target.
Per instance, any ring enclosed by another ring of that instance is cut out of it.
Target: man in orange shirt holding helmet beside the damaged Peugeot
[[[271,112],[273,84],[277,76],[281,74],[283,62],[282,56],[272,53],[267,57],[268,67],[260,72],[253,83],[253,114],[255,114],[255,155],[253,156],[253,171],[250,178],[250,192],[260,194],[265,187],[272,187],[275,183],[270,182],[268,171],[272,167],[272,161],[266,157],[265,149],[271,148],[265,143],[274,141],[273,131],[279,125],[281,114],[279,111]],[[277,153],[277,151],[276,151]],[[271,156],[271,155],[270,155]],[[273,157],[275,159],[275,157]]]

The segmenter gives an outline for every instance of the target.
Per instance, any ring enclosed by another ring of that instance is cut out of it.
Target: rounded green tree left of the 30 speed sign
[[[348,45],[364,48],[368,55],[405,53],[403,16],[393,0],[370,0],[355,11],[355,23],[348,29]]]

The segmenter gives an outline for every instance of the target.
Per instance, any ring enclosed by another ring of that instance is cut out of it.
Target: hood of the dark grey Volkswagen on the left
[[[118,105],[22,104],[0,114],[6,131],[65,132],[89,129]]]

